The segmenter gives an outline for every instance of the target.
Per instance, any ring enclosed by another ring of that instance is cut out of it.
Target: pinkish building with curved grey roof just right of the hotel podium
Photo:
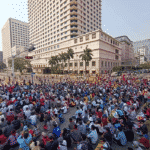
[[[121,53],[121,65],[131,66],[134,65],[134,48],[133,42],[127,36],[116,37],[120,41],[122,53]]]

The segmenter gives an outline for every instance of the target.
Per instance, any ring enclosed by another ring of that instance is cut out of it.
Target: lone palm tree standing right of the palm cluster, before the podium
[[[82,58],[82,61],[85,61],[85,73],[86,73],[86,63],[92,60],[92,50],[88,47],[84,50],[84,53],[79,56]]]

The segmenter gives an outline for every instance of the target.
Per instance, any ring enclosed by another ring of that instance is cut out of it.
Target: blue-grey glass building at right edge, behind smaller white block
[[[138,59],[139,59],[139,56],[140,56],[139,49],[143,46],[146,46],[148,48],[147,61],[150,61],[150,39],[133,42],[134,53],[138,55]]]

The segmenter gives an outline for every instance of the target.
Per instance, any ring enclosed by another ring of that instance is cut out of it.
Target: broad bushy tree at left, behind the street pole
[[[10,67],[12,67],[12,59],[9,59],[8,64]],[[27,68],[31,68],[30,60],[26,60],[24,58],[19,58],[19,57],[14,58],[14,69],[15,70],[19,70],[20,73],[22,73],[22,71]]]

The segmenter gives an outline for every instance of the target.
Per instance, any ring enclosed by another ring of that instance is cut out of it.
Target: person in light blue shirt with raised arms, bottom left
[[[30,150],[28,144],[31,142],[31,140],[32,140],[32,135],[29,134],[28,132],[23,133],[23,136],[20,135],[17,138],[17,142],[19,143],[20,148],[22,148],[22,150]]]

